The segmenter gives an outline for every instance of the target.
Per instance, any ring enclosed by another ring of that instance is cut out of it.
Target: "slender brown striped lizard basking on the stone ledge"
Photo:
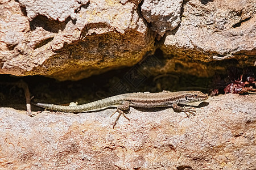
[[[107,97],[105,99],[93,101],[86,104],[81,105],[73,105],[73,106],[64,106],[64,105],[55,105],[55,104],[47,104],[47,103],[37,103],[38,107],[46,108],[53,111],[61,111],[61,112],[87,112],[87,111],[98,111],[102,109],[106,109],[109,107],[116,107],[117,111],[115,111],[110,117],[112,117],[115,113],[119,113],[117,118],[115,119],[113,128],[117,124],[117,121],[121,115],[123,115],[127,120],[130,121],[128,117],[126,117],[125,113],[130,113],[129,108],[159,108],[159,107],[172,107],[175,112],[184,112],[189,116],[189,114],[193,114],[195,116],[196,111],[191,108],[184,108],[180,105],[185,103],[193,103],[196,101],[203,101],[208,99],[208,95],[204,94],[200,91],[163,91],[158,93],[150,93],[150,92],[136,92],[136,93],[128,93],[115,95],[112,97]]]

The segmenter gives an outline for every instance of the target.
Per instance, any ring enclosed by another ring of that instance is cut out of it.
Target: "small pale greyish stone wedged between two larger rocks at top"
[[[180,23],[182,0],[145,0],[141,5],[142,16],[151,23],[151,29],[163,36]]]

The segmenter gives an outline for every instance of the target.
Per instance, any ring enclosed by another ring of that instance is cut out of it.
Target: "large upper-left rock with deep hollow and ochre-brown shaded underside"
[[[58,5],[63,2],[56,2],[55,7],[60,8]],[[63,13],[40,1],[35,1],[35,5],[28,1],[3,1],[0,74],[77,80],[132,66],[152,49],[154,36],[133,3],[79,2],[64,3],[63,9],[73,8]],[[41,10],[34,12],[37,8]]]

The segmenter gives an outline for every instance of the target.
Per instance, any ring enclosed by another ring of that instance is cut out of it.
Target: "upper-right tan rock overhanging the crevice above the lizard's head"
[[[256,1],[197,1],[184,3],[179,28],[166,33],[166,55],[194,59],[237,58],[254,65]]]

